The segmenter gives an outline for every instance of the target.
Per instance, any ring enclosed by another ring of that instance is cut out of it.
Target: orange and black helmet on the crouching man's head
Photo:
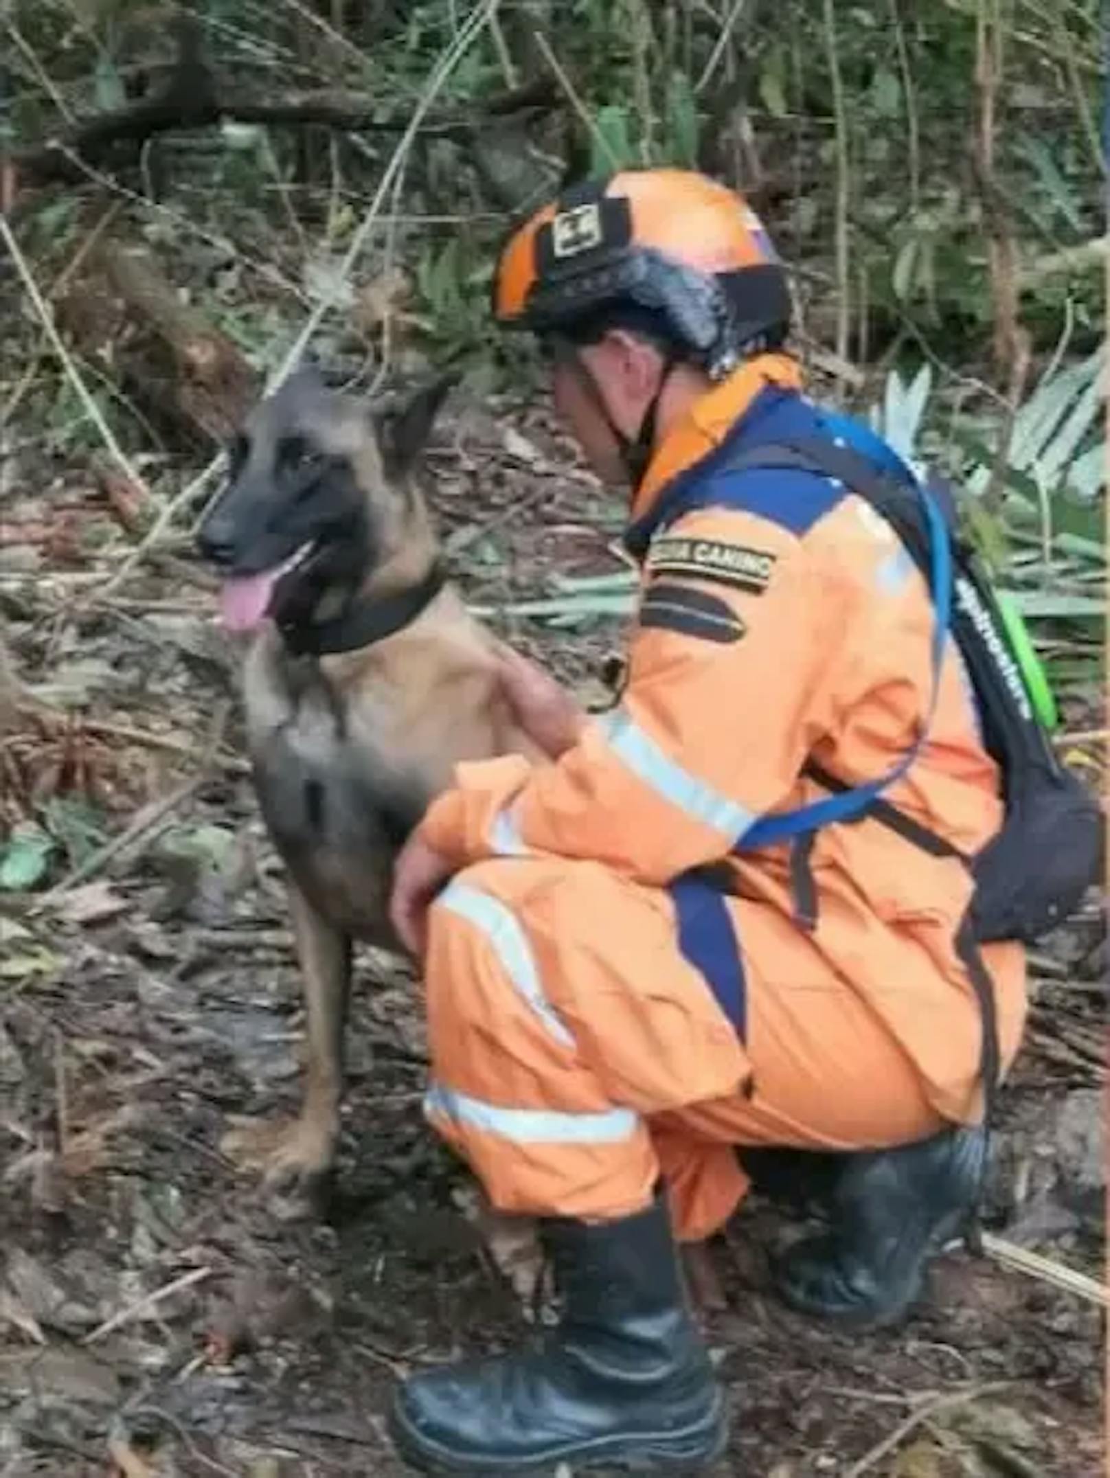
[[[712,378],[777,347],[791,316],[782,265],[735,191],[689,170],[621,170],[544,205],[494,278],[505,327],[588,338],[655,328]]]

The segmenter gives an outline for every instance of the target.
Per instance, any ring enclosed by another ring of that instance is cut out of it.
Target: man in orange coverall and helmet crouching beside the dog
[[[430,1471],[690,1468],[726,1419],[675,1242],[732,1215],[740,1156],[838,1151],[831,1230],[777,1286],[865,1324],[919,1293],[984,1153],[962,863],[872,817],[803,847],[745,835],[828,794],[811,761],[859,785],[927,726],[888,800],[974,853],[999,776],[950,641],[934,693],[930,588],[890,525],[835,479],[727,470],[749,442],[869,437],[806,398],[743,200],[680,170],[579,186],[511,235],[495,312],[539,336],[587,458],[631,486],[643,578],[613,709],[507,655],[550,763],[461,766],[398,863],[426,1113],[498,1208],[541,1219],[563,1312],[535,1349],[411,1377],[392,1428]],[[983,958],[1005,1067],[1024,955]]]

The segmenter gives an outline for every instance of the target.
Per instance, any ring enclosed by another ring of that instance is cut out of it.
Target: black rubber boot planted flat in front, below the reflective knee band
[[[401,1454],[433,1474],[551,1474],[559,1463],[699,1472],[726,1440],[724,1401],[686,1304],[665,1202],[621,1221],[542,1224],[563,1296],[534,1348],[406,1380]]]

